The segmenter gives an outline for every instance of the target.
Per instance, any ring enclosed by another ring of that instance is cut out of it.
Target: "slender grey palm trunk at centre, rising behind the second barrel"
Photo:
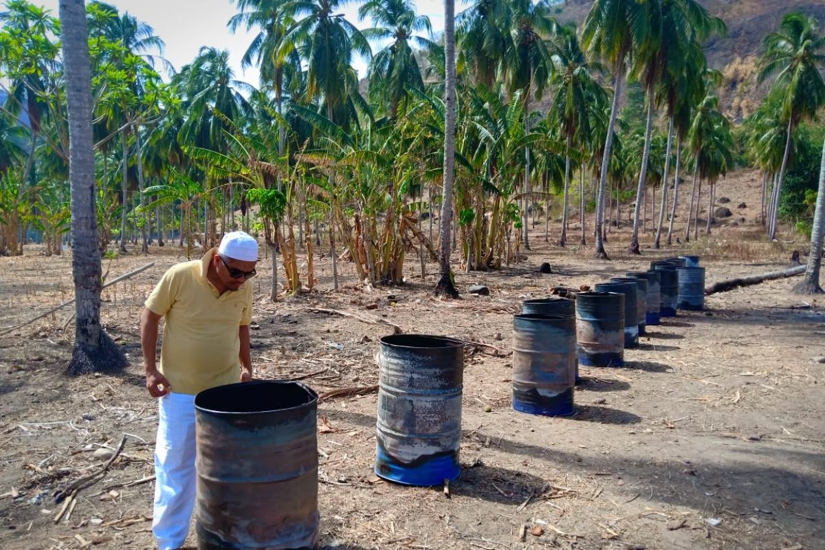
[[[455,0],[444,0],[444,191],[441,198],[441,277],[436,294],[457,298],[450,275],[450,222],[453,214],[453,178],[455,177]]]

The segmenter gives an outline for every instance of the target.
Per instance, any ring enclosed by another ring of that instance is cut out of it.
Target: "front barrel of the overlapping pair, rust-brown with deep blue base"
[[[513,317],[513,410],[573,414],[576,319],[521,313]]]

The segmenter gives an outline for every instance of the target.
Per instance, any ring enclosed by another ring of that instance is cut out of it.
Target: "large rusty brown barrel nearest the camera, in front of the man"
[[[195,397],[200,550],[318,547],[317,401],[269,380]]]

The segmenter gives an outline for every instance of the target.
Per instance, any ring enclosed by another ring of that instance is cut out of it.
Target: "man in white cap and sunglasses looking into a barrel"
[[[240,231],[200,260],[172,266],[140,317],[146,388],[159,398],[152,529],[158,550],[180,548],[195,507],[195,395],[252,379],[249,322],[257,241]],[[158,322],[166,317],[160,365]]]

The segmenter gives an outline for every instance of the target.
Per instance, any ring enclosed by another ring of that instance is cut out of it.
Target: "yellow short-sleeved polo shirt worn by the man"
[[[166,317],[159,369],[174,393],[241,381],[238,327],[252,322],[252,284],[219,294],[206,279],[214,251],[172,266],[145,302]]]

